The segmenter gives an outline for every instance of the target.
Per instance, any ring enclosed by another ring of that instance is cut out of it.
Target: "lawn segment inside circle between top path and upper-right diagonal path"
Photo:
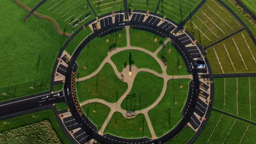
[[[155,38],[158,39],[156,43],[154,42]],[[162,38],[152,32],[130,28],[131,46],[141,47],[154,52],[159,48],[159,46],[161,46],[161,44],[164,43],[165,40],[166,38]]]

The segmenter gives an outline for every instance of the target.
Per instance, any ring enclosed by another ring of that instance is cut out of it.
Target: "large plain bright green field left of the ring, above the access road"
[[[49,91],[54,62],[66,37],[34,15],[22,21],[27,11],[14,1],[4,1],[0,7],[0,101]]]

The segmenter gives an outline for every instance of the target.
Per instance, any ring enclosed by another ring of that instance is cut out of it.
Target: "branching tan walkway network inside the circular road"
[[[164,79],[164,87],[162,88],[161,94],[159,95],[158,99],[156,99],[156,101],[152,105],[146,107],[145,109],[135,111],[135,116],[138,115],[139,113],[144,114],[144,116],[146,117],[147,123],[148,123],[150,133],[152,134],[152,139],[156,139],[156,135],[154,133],[152,123],[149,119],[148,112],[151,109],[153,109],[156,105],[158,105],[160,103],[160,101],[162,100],[162,98],[164,97],[168,80],[170,80],[170,79],[193,79],[193,76],[192,75],[167,75],[167,73],[166,73],[167,67],[161,62],[161,59],[158,58],[157,54],[171,40],[170,38],[168,38],[166,41],[164,41],[164,43],[155,52],[150,52],[150,51],[148,51],[146,49],[142,49],[140,47],[131,46],[130,45],[129,27],[127,27],[127,26],[126,26],[126,38],[127,38],[127,46],[126,47],[118,48],[116,50],[108,52],[108,56],[104,59],[104,61],[100,65],[100,67],[98,67],[98,69],[94,73],[78,79],[78,81],[84,81],[84,80],[90,79],[91,77],[94,77],[101,71],[101,69],[103,68],[103,66],[106,63],[109,63],[112,66],[112,68],[114,69],[115,75],[117,75],[117,77],[119,79],[123,79],[124,82],[127,83],[128,88],[127,88],[126,92],[115,103],[109,103],[102,99],[89,99],[89,100],[83,101],[82,103],[80,103],[80,105],[83,106],[83,105],[86,105],[89,103],[101,103],[101,104],[104,104],[104,105],[107,105],[108,107],[110,107],[110,109],[111,109],[110,113],[109,113],[108,117],[106,118],[106,121],[103,123],[102,128],[99,130],[99,132],[101,134],[103,134],[104,130],[107,127],[107,124],[110,121],[111,117],[113,116],[114,112],[120,112],[125,118],[127,118],[127,116],[126,116],[127,111],[121,108],[121,103],[126,98],[126,96],[130,93],[130,91],[132,89],[133,82],[135,80],[135,77],[139,72],[147,71],[148,73],[152,73],[158,77],[161,77],[162,79]],[[125,50],[138,50],[138,51],[148,53],[148,55],[152,56],[156,60],[156,62],[158,62],[158,64],[160,65],[160,67],[162,69],[162,74],[159,74],[156,71],[148,69],[148,68],[139,68],[138,69],[136,66],[131,67],[131,73],[130,73],[129,67],[124,68],[123,71],[121,73],[119,73],[116,65],[111,60],[111,57],[113,55],[115,55],[116,53],[125,51]],[[123,77],[121,77],[121,74],[123,75]],[[134,118],[134,117],[132,117],[132,118]]]

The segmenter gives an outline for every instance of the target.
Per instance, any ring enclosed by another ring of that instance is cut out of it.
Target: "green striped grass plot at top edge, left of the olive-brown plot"
[[[181,23],[202,0],[161,0],[157,13]]]

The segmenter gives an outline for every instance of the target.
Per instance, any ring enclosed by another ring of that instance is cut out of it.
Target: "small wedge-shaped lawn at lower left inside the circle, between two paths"
[[[98,131],[101,129],[110,112],[110,108],[101,103],[90,103],[82,106],[82,109],[91,122],[97,126]]]

